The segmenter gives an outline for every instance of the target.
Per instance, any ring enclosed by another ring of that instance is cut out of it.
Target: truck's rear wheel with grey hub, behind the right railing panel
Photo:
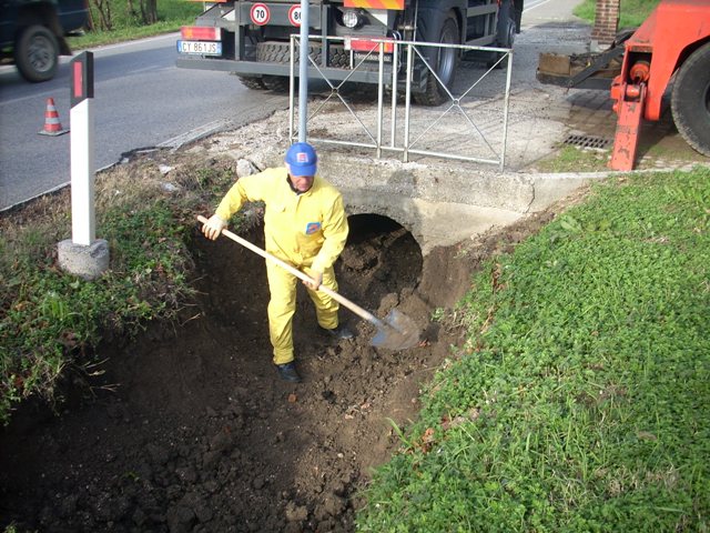
[[[439,38],[435,42],[460,44],[460,32],[458,31],[456,17],[449,16],[444,20]],[[455,48],[433,49],[433,53],[427,54],[427,61],[444,86],[450,88],[456,77],[458,50]],[[432,72],[427,72],[425,92],[414,93],[413,97],[415,102],[420,105],[439,105],[448,98],[448,94],[436,77]]]

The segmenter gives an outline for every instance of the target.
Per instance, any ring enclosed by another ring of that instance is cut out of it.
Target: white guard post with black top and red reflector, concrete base
[[[80,53],[70,67],[72,239],[59,243],[59,264],[72,274],[93,280],[109,268],[109,244],[95,239],[93,53]]]

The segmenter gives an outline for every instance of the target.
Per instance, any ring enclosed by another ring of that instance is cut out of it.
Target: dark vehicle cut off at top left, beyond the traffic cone
[[[0,57],[28,81],[51,80],[59,56],[71,56],[64,38],[88,21],[87,0],[0,0]]]

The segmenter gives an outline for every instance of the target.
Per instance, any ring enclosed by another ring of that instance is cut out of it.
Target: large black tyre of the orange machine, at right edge
[[[690,54],[678,71],[670,105],[683,139],[710,158],[710,43]]]

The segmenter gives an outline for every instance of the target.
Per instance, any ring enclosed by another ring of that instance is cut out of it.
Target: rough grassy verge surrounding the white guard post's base
[[[31,395],[52,401],[68,369],[87,373],[102,336],[174,320],[190,301],[192,213],[214,203],[232,164],[181,165],[170,173],[176,192],[156,164],[131,169],[98,180],[97,235],[109,241],[111,259],[98,281],[55,264],[57,243],[71,237],[68,191],[0,215],[0,422]]]

